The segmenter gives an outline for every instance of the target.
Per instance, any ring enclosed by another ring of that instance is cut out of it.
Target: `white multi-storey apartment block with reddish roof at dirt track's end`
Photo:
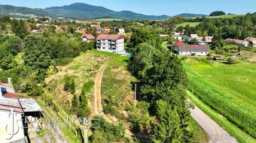
[[[96,47],[99,51],[125,53],[124,40],[121,34],[99,34],[96,38]]]

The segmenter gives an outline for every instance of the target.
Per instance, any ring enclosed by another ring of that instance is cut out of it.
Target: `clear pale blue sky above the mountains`
[[[147,15],[209,14],[215,10],[245,14],[256,12],[256,0],[0,0],[0,4],[45,8],[83,2],[111,10],[131,10]]]

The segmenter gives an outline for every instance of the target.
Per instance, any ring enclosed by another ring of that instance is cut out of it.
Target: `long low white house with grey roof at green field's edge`
[[[200,45],[190,45],[190,46],[178,46],[175,49],[177,55],[193,55],[196,56],[205,56],[209,54],[209,49],[207,46],[200,46]]]

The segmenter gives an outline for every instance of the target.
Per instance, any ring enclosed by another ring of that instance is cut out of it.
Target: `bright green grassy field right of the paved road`
[[[190,58],[183,64],[190,91],[255,139],[256,64],[228,65]]]

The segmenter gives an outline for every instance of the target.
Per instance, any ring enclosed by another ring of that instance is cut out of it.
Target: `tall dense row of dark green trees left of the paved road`
[[[130,65],[133,65],[133,72],[140,79],[142,100],[150,104],[149,112],[157,117],[151,141],[189,142],[186,73],[181,61],[156,43],[160,36],[154,31],[146,31],[154,37],[151,42],[147,42],[148,37],[142,35],[145,29],[136,31],[131,37],[133,44],[139,42],[133,49]]]

